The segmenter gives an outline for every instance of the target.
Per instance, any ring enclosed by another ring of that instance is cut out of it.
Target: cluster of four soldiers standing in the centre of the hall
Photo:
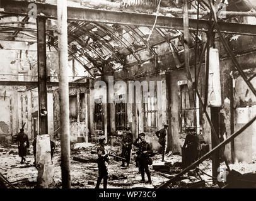
[[[162,146],[162,161],[164,161],[165,158],[165,146],[166,146],[166,132],[168,129],[168,125],[165,124],[164,128],[160,131],[156,132],[156,136],[158,136],[159,140],[158,142]],[[140,133],[138,138],[134,141],[131,128],[127,127],[124,136],[122,137],[122,167],[126,166],[129,167],[130,160],[131,160],[131,150],[132,150],[132,144],[136,146],[138,149],[136,151],[136,166],[139,168],[139,173],[141,173],[141,182],[145,183],[152,183],[151,180],[151,174],[149,171],[149,165],[151,164],[150,156],[153,153],[151,145],[146,141],[145,139],[146,134]],[[98,153],[98,171],[99,176],[96,183],[96,188],[100,187],[100,183],[103,179],[103,188],[107,188],[107,178],[108,178],[108,171],[107,166],[109,162],[108,155],[105,153],[104,144],[105,144],[105,138],[102,138],[99,140],[100,146],[97,149]],[[145,173],[148,176],[148,181],[145,181]]]

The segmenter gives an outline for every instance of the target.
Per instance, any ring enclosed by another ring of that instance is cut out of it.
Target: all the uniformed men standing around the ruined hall
[[[23,126],[24,127],[24,126]],[[158,137],[158,142],[161,144],[161,154],[162,154],[162,161],[165,161],[165,147],[166,147],[166,133],[167,133],[168,125],[165,124],[164,128],[160,131],[156,131],[156,136]],[[189,155],[189,163],[194,162],[199,157],[200,153],[200,142],[198,136],[195,134],[194,129],[187,129],[187,136],[185,138],[185,143],[183,145],[183,149],[187,149],[187,153]],[[131,150],[132,144],[138,148],[136,152],[136,166],[139,168],[139,172],[141,173],[141,182],[145,182],[145,173],[148,176],[148,181],[146,183],[152,183],[151,181],[151,174],[149,171],[148,165],[150,164],[150,156],[153,153],[151,145],[146,142],[145,134],[140,133],[138,138],[134,141],[131,128],[127,127],[122,138],[122,167],[125,166],[129,167],[130,160],[131,160]],[[24,129],[20,129],[20,133],[16,136],[16,141],[18,141],[18,151],[19,156],[21,157],[21,164],[25,161],[25,156],[27,154],[27,149],[29,148],[29,141],[28,136],[24,133]],[[100,146],[97,148],[98,154],[98,180],[96,183],[95,188],[100,187],[100,183],[103,179],[103,188],[107,188],[107,178],[108,178],[108,163],[109,163],[109,156],[105,151],[105,138],[99,140]],[[51,151],[53,155],[53,151],[55,148],[55,144],[51,141]],[[36,152],[36,140],[33,141],[34,147],[34,156]]]

